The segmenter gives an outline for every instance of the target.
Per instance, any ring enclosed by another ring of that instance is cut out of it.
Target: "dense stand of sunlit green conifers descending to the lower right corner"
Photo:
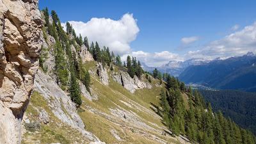
[[[184,89],[172,77],[162,90],[159,114],[166,126],[176,135],[188,136],[198,143],[255,143],[255,136],[241,129],[220,111],[212,112],[210,103],[197,90]]]

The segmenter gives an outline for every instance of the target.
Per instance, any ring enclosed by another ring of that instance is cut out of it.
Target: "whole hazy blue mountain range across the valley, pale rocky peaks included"
[[[153,67],[142,64],[145,71]],[[162,73],[177,76],[187,84],[202,85],[214,89],[237,89],[256,92],[256,55],[253,52],[241,57],[170,61],[157,68]]]

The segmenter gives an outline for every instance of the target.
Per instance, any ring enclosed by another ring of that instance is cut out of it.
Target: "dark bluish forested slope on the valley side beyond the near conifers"
[[[212,104],[214,112],[221,110],[239,126],[256,133],[256,94],[237,90],[200,90],[204,99]]]

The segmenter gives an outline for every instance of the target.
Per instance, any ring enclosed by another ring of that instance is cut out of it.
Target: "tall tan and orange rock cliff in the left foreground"
[[[20,142],[20,121],[29,102],[42,47],[37,0],[0,0],[0,141]]]

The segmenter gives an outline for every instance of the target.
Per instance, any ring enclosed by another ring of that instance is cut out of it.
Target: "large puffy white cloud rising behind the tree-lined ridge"
[[[126,13],[120,20],[110,18],[91,18],[88,22],[69,21],[77,34],[87,36],[89,41],[97,41],[100,46],[109,47],[117,54],[131,52],[130,43],[140,31],[137,20]],[[65,23],[62,24],[65,28]]]

